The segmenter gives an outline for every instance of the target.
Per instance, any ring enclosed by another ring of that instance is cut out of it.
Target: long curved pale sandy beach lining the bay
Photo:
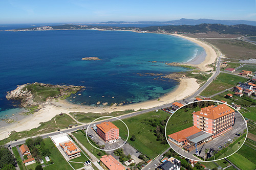
[[[206,57],[201,56],[200,58],[199,56],[197,60],[198,61],[203,60],[203,61],[200,64],[194,65],[194,66],[199,67],[201,71],[207,71],[211,69],[206,67],[206,65],[211,64],[216,60],[217,55],[214,49],[212,49],[209,45],[201,41],[198,41],[194,38],[188,38],[182,35],[175,35],[175,36],[188,39],[202,46],[205,49]],[[188,63],[188,65],[191,65],[191,64]],[[47,122],[52,117],[54,117],[57,114],[60,114],[61,112],[62,113],[94,112],[97,114],[101,112],[122,111],[122,110],[128,110],[128,109],[134,109],[136,111],[139,109],[154,108],[156,106],[161,106],[167,103],[172,103],[174,101],[182,100],[187,96],[193,94],[200,87],[200,85],[196,81],[197,80],[194,78],[180,79],[180,85],[172,92],[162,96],[160,100],[151,100],[151,101],[124,105],[124,106],[91,107],[91,106],[72,104],[65,100],[59,100],[58,102],[48,101],[43,106],[42,109],[40,109],[38,112],[34,113],[33,115],[26,116],[26,118],[20,118],[22,116],[19,116],[18,118],[14,118],[16,120],[15,123],[6,124],[4,122],[0,122],[0,140],[8,137],[11,131],[20,132],[20,131],[36,128],[40,125],[39,124],[40,122]]]

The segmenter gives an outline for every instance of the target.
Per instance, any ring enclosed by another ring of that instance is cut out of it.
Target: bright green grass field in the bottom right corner
[[[255,163],[249,161],[239,153],[234,153],[233,155],[229,156],[227,159],[241,169],[255,169],[256,167]]]

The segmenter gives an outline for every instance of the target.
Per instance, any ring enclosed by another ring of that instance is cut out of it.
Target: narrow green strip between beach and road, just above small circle
[[[93,122],[96,118],[102,117],[102,116],[119,116],[122,114],[132,113],[134,110],[125,110],[125,111],[115,111],[111,113],[84,113],[84,112],[71,112],[70,114],[79,122],[81,123],[90,123]]]

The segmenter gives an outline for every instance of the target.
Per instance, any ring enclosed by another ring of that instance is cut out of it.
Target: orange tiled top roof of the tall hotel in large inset
[[[219,117],[225,116],[225,115],[233,113],[233,112],[234,112],[233,109],[231,109],[230,107],[228,107],[225,104],[222,104],[222,105],[218,105],[218,106],[208,106],[205,108],[201,108],[200,111],[194,112],[192,114],[215,120]]]

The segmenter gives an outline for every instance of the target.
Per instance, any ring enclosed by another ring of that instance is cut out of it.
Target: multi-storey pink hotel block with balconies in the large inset
[[[232,128],[234,124],[234,112],[233,109],[225,104],[208,106],[192,113],[193,123],[195,127],[216,137]]]

